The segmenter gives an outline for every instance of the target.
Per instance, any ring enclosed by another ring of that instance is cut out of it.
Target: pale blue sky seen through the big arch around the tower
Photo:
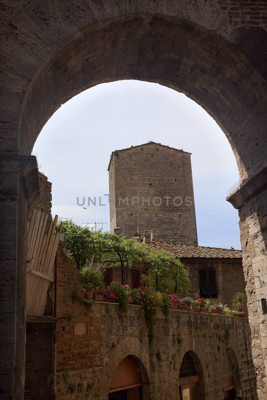
[[[231,146],[201,106],[184,94],[137,80],[101,84],[63,104],[34,145],[40,170],[52,182],[52,215],[77,224],[106,222],[108,162],[114,150],[152,140],[191,152],[198,241],[240,249],[238,212],[225,201],[239,178]],[[77,205],[77,196],[106,206]]]

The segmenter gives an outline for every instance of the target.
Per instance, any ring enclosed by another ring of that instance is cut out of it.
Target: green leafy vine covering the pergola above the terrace
[[[59,229],[60,221],[57,224]],[[190,288],[187,270],[178,258],[169,252],[157,252],[136,240],[120,235],[78,226],[72,220],[64,220],[64,249],[73,255],[78,267],[90,267],[104,261],[105,266],[122,268],[123,282],[127,284],[129,268],[143,262],[149,265],[149,275],[144,276],[144,286],[162,293],[185,294]],[[88,272],[88,271],[87,271]],[[88,272],[89,273],[89,272]],[[81,275],[83,283],[93,282],[88,275]],[[97,286],[101,286],[101,282]]]

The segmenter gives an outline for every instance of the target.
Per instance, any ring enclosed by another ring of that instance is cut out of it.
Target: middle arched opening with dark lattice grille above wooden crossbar
[[[179,372],[179,392],[181,400],[197,400],[197,382],[199,375],[194,360],[189,352],[186,352],[181,362]]]

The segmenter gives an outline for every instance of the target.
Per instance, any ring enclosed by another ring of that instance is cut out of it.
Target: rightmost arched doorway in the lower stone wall
[[[222,375],[224,400],[235,400],[236,397],[241,397],[237,360],[230,348],[227,348],[223,356]]]

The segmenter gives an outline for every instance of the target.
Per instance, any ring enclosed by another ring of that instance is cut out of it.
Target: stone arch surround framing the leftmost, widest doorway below
[[[112,375],[114,374],[117,365],[123,358],[127,356],[131,356],[135,364],[139,366],[141,377],[143,383],[145,384],[145,392],[147,398],[150,398],[151,371],[149,354],[141,340],[135,336],[128,336],[122,339],[120,343],[116,346],[110,359],[108,360],[108,363],[104,370],[104,396],[108,395]]]

